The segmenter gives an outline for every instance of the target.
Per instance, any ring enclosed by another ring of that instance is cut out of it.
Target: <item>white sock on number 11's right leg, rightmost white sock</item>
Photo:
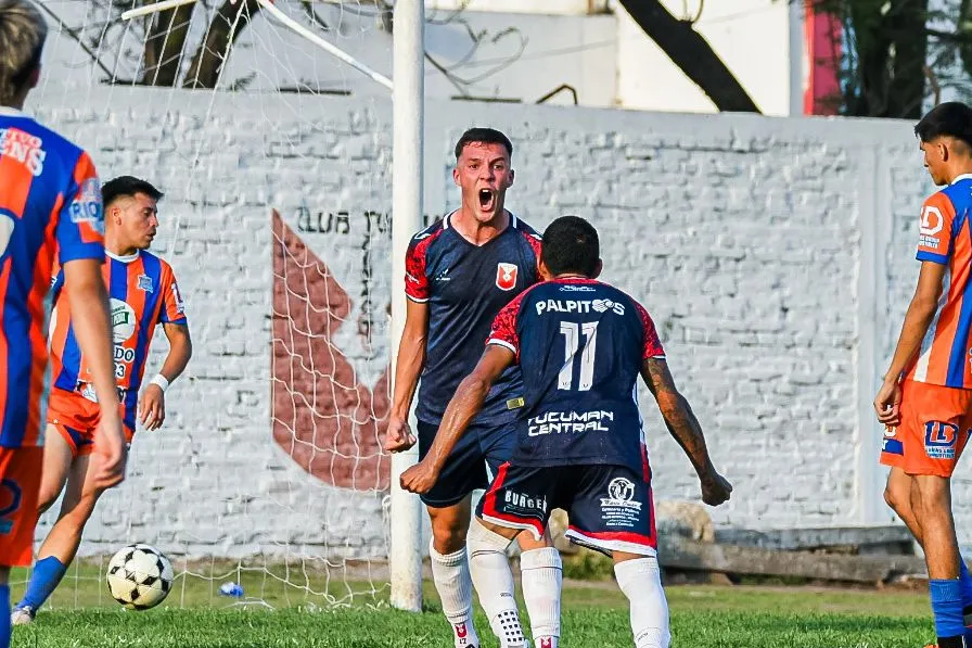
[[[668,648],[668,601],[662,589],[657,558],[637,558],[614,566],[617,584],[631,603],[636,648]]]

